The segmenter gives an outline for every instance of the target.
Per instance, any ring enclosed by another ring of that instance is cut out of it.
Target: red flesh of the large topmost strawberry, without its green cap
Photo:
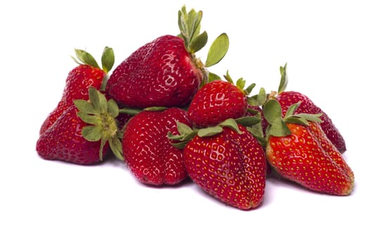
[[[118,65],[106,90],[117,103],[131,108],[180,107],[190,102],[201,82],[202,72],[183,39],[165,35]]]

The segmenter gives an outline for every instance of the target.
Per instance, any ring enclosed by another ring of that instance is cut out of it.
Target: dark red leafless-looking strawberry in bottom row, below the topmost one
[[[171,145],[176,122],[190,125],[185,110],[142,111],[127,123],[122,138],[124,160],[142,183],[173,185],[186,178],[183,153]]]

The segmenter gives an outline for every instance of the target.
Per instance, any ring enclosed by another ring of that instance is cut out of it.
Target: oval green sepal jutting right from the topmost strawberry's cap
[[[207,53],[207,60],[205,62],[205,67],[211,67],[216,63],[219,63],[221,59],[226,56],[226,53],[229,48],[229,39],[226,33],[220,34],[214,42],[212,46],[209,48],[209,52]]]

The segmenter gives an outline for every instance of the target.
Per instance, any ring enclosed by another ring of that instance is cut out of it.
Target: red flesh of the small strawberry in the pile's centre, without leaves
[[[202,86],[188,107],[196,127],[210,127],[226,119],[242,117],[247,110],[245,95],[230,82],[216,80]]]

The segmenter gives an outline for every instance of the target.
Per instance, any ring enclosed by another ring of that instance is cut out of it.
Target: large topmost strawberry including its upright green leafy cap
[[[204,64],[195,57],[207,43],[200,34],[202,12],[179,11],[179,36],[164,35],[138,48],[112,72],[108,94],[126,107],[181,107],[190,102],[202,80],[205,67],[218,63],[228,50],[228,37],[221,34],[209,50]]]

